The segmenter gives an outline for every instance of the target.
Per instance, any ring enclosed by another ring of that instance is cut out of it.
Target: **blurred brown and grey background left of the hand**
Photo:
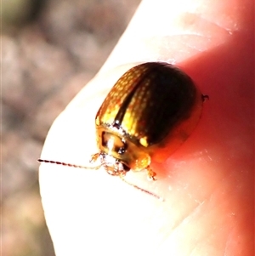
[[[2,255],[54,256],[37,158],[141,0],[2,0]]]

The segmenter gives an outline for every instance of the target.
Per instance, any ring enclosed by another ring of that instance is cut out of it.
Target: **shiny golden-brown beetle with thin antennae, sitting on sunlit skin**
[[[145,170],[148,179],[155,180],[151,158],[163,162],[190,136],[205,99],[208,96],[174,65],[147,62],[134,66],[111,88],[96,114],[99,152],[90,162],[99,160],[99,167],[113,176],[123,178],[129,170]]]

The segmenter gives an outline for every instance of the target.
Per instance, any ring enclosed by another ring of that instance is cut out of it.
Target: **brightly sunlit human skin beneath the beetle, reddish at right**
[[[176,3],[175,3],[176,2]],[[253,1],[144,1],[97,77],[56,119],[42,158],[88,165],[94,117],[124,71],[178,65],[210,100],[183,145],[127,180],[43,163],[42,205],[57,256],[251,256],[254,222]]]

